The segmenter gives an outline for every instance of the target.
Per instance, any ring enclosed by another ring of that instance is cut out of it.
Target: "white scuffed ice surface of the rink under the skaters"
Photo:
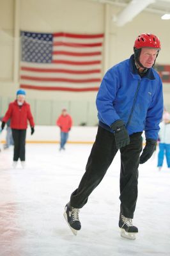
[[[73,236],[63,211],[84,173],[92,145],[27,144],[26,168],[12,168],[13,148],[0,153],[0,256],[170,255],[170,170],[157,170],[157,152],[139,167],[135,241],[120,237],[116,155],[80,212]]]

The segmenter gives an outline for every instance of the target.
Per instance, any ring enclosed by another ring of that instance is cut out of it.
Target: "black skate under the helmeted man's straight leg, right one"
[[[135,234],[138,233],[137,227],[132,223],[132,219],[126,218],[120,213],[119,227],[121,228],[121,237],[134,240]]]

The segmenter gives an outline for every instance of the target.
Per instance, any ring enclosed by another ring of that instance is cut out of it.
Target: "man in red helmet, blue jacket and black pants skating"
[[[79,187],[66,204],[64,216],[73,234],[81,229],[79,209],[103,179],[120,150],[121,236],[135,239],[132,224],[137,202],[139,163],[155,150],[163,113],[162,81],[152,68],[160,51],[160,40],[152,34],[137,36],[130,59],[110,68],[97,94],[98,132]],[[145,132],[143,150],[141,134]],[[141,154],[143,150],[143,153]],[[141,156],[140,156],[141,154]]]

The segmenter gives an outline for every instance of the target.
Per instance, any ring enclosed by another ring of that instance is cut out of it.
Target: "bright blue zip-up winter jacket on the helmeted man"
[[[112,131],[111,124],[123,120],[128,134],[145,131],[146,139],[157,140],[163,113],[162,81],[153,68],[139,76],[130,59],[110,68],[97,94],[99,125]]]

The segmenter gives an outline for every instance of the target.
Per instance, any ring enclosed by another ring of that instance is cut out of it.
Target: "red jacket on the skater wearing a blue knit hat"
[[[27,129],[27,120],[29,120],[31,127],[35,126],[30,106],[26,101],[24,101],[21,107],[17,104],[17,100],[11,102],[3,118],[3,122],[7,122],[9,118],[11,119],[10,127],[12,129]]]

